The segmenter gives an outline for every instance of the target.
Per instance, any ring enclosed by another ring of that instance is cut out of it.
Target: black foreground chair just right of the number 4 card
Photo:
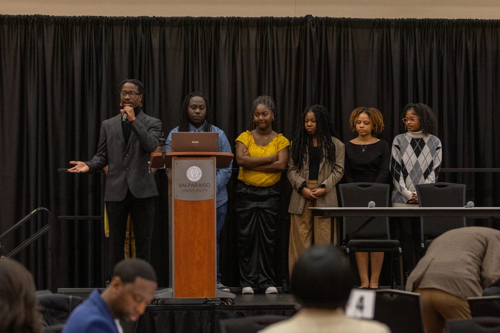
[[[420,294],[392,289],[376,290],[373,319],[387,325],[392,333],[422,333]]]

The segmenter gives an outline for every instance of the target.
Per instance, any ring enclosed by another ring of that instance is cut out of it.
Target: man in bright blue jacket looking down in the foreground
[[[120,333],[120,321],[135,322],[151,303],[156,274],[142,259],[123,259],[113,270],[111,282],[100,293],[95,289],[71,313],[63,333]]]

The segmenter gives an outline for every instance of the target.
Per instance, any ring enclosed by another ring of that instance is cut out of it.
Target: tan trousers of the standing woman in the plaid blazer
[[[309,180],[310,190],[317,188],[317,180]],[[331,235],[331,219],[315,216],[312,218],[309,207],[314,207],[314,200],[305,199],[302,214],[290,214],[290,241],[288,246],[288,270],[291,270],[298,256],[312,243],[314,231],[314,244],[329,244]],[[333,244],[336,243],[336,221],[333,222]]]

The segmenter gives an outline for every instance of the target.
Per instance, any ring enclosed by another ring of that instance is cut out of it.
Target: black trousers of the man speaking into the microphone
[[[151,262],[151,236],[154,224],[154,201],[152,197],[135,198],[128,190],[121,201],[106,201],[109,221],[109,268],[125,257],[125,233],[128,213],[132,217],[135,255]]]

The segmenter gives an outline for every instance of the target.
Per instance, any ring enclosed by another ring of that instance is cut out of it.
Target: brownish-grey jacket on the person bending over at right
[[[500,278],[500,231],[452,229],[437,237],[411,272],[407,291],[433,288],[456,297],[481,296]]]

